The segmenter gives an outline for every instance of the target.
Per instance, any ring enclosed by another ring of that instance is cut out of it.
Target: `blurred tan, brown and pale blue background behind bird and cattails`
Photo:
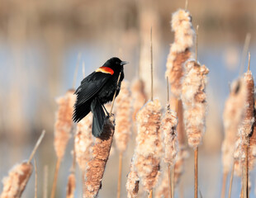
[[[53,137],[58,106],[55,98],[64,95],[69,88],[78,87],[83,79],[83,63],[88,75],[112,56],[130,62],[125,73],[126,79],[131,81],[138,75],[141,59],[149,63],[151,26],[154,95],[164,106],[165,64],[173,42],[170,20],[173,12],[184,7],[185,1],[168,0],[0,0],[0,178],[6,176],[14,164],[29,157],[41,130],[45,129],[45,139],[36,153],[39,197],[45,165],[49,167],[50,191],[56,162]],[[200,26],[198,59],[211,71],[207,87],[207,130],[199,153],[199,186],[203,197],[220,196],[222,111],[229,82],[239,76],[248,32],[252,35],[251,70],[256,73],[255,8],[254,0],[188,1],[193,26]],[[79,66],[78,78],[73,84],[76,65]],[[149,70],[140,73],[149,74]],[[121,197],[126,197],[126,174],[134,139],[133,136],[124,157]],[[56,197],[65,195],[72,146],[70,141],[60,167]],[[192,197],[192,160],[191,155],[183,178],[184,197]],[[116,196],[117,167],[118,153],[114,153],[107,163],[99,197]],[[81,197],[80,172],[77,176],[76,197]],[[255,177],[251,178],[255,186]],[[235,178],[234,197],[239,197],[239,182],[239,178]],[[0,189],[2,191],[2,183]],[[33,197],[33,189],[34,176],[23,197]],[[256,197],[254,187],[252,189],[251,197]]]

